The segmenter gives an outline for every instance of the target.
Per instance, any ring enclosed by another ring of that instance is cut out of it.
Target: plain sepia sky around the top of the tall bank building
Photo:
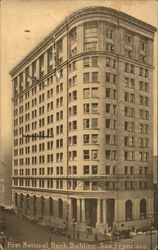
[[[0,122],[1,147],[11,142],[12,83],[9,71],[45,38],[66,16],[88,6],[106,6],[125,12],[158,27],[158,1],[156,0],[1,0],[0,1]],[[25,33],[29,29],[30,33]],[[154,154],[156,146],[157,114],[157,34],[154,52]],[[1,148],[0,147],[0,148]]]

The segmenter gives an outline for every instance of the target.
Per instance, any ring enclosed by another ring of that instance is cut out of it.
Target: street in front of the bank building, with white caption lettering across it
[[[139,249],[156,250],[157,234],[136,235],[131,239],[120,239],[119,242],[84,243],[68,241],[66,236],[52,234],[48,228],[27,221],[24,218],[6,213],[5,229],[9,237],[6,250],[10,249]]]

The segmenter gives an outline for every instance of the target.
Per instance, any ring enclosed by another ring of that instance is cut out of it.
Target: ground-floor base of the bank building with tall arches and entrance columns
[[[110,231],[149,227],[153,220],[153,192],[121,194],[48,194],[13,191],[18,214],[46,225],[58,225],[94,238]]]

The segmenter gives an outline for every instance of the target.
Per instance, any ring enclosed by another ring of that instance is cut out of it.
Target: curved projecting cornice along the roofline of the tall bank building
[[[28,55],[24,57],[24,59],[18,63],[10,72],[9,74],[14,77],[14,75],[22,68],[24,67],[30,60],[33,59],[33,57],[37,56],[39,53],[42,52],[46,46],[49,46],[52,42],[53,36],[58,37],[60,36],[64,31],[67,30],[68,27],[70,27],[74,22],[79,21],[83,17],[88,17],[91,14],[104,14],[104,15],[110,15],[117,20],[125,21],[127,24],[132,24],[136,27],[141,28],[142,30],[146,30],[150,33],[154,33],[157,31],[157,29],[148,24],[145,23],[137,18],[134,18],[128,14],[125,14],[123,12],[117,11],[112,8],[107,8],[103,6],[92,6],[92,7],[86,7],[82,8],[80,10],[77,10],[73,12],[71,15],[66,17],[64,21],[62,21],[45,39],[43,39],[33,50],[29,52]]]

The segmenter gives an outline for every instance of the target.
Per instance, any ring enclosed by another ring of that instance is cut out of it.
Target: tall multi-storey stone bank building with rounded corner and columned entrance
[[[10,72],[17,212],[76,232],[151,223],[154,32],[81,9]]]

